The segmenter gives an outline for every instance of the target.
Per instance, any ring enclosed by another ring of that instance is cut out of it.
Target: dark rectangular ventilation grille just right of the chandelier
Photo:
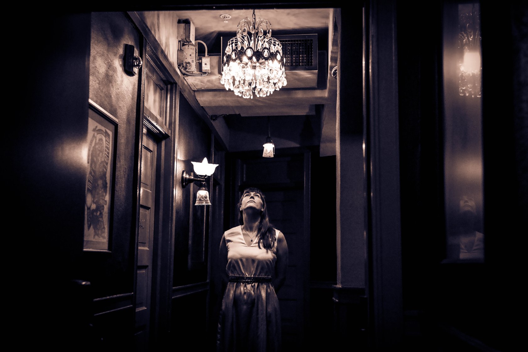
[[[276,35],[285,70],[317,70],[317,34]]]

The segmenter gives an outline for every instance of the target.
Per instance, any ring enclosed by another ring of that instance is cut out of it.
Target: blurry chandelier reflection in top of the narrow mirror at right
[[[482,64],[480,56],[480,14],[475,4],[471,12],[459,17],[460,32],[458,33],[458,49],[460,74],[458,75],[458,90],[461,96],[482,96],[480,89],[480,74]]]

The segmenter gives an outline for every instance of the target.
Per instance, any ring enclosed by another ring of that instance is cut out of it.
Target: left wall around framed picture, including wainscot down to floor
[[[83,252],[82,277],[91,283],[94,325],[106,344],[130,341],[134,328],[140,74],[124,70],[125,44],[138,50],[139,34],[122,12],[91,15],[89,98],[117,120],[114,192],[108,252]]]

